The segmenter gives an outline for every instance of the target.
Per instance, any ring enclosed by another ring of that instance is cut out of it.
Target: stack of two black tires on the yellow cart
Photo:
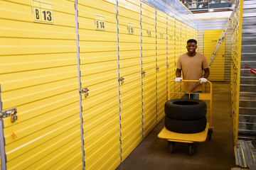
[[[178,133],[197,133],[206,129],[207,106],[204,101],[179,98],[166,101],[164,125]]]

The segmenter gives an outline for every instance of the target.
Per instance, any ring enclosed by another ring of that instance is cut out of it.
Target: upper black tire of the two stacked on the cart
[[[189,98],[166,101],[164,112],[168,118],[177,120],[197,120],[204,118],[207,112],[206,102]]]

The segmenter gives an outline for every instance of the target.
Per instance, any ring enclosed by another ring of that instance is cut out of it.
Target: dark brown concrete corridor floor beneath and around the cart
[[[117,170],[231,169],[235,167],[235,156],[229,83],[213,82],[212,123],[212,139],[196,143],[195,152],[190,156],[185,143],[176,143],[175,153],[169,152],[168,142],[157,137],[164,128],[161,120]]]

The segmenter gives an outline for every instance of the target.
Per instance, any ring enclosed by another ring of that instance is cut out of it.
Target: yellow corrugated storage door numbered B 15
[[[140,1],[118,2],[122,160],[142,142]]]

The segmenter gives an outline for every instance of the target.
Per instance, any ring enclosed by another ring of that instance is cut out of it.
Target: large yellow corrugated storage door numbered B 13
[[[82,169],[74,3],[0,2],[7,169]]]

